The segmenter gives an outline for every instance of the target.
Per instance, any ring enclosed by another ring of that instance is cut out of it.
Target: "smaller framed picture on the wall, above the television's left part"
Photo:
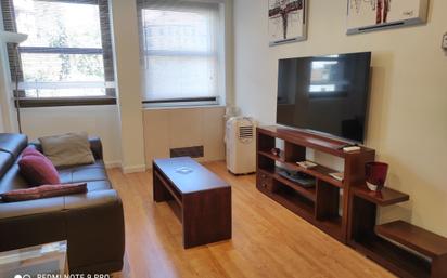
[[[270,45],[306,40],[307,0],[269,0]]]

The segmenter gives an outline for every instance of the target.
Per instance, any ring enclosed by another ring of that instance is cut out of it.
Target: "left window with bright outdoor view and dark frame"
[[[2,11],[7,30],[28,35],[18,61],[9,45],[21,103],[115,103],[106,0],[2,0]]]

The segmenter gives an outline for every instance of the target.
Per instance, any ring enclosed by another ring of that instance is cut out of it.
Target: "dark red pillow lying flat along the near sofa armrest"
[[[17,202],[81,193],[87,193],[87,183],[41,185],[0,194],[0,197],[3,202]]]

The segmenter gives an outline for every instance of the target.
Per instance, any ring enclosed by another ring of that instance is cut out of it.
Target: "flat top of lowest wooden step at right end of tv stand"
[[[375,226],[375,233],[432,259],[447,255],[447,238],[405,221]]]

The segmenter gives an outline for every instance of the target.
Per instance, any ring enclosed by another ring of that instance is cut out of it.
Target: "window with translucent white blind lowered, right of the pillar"
[[[219,3],[138,0],[144,104],[217,103]]]

